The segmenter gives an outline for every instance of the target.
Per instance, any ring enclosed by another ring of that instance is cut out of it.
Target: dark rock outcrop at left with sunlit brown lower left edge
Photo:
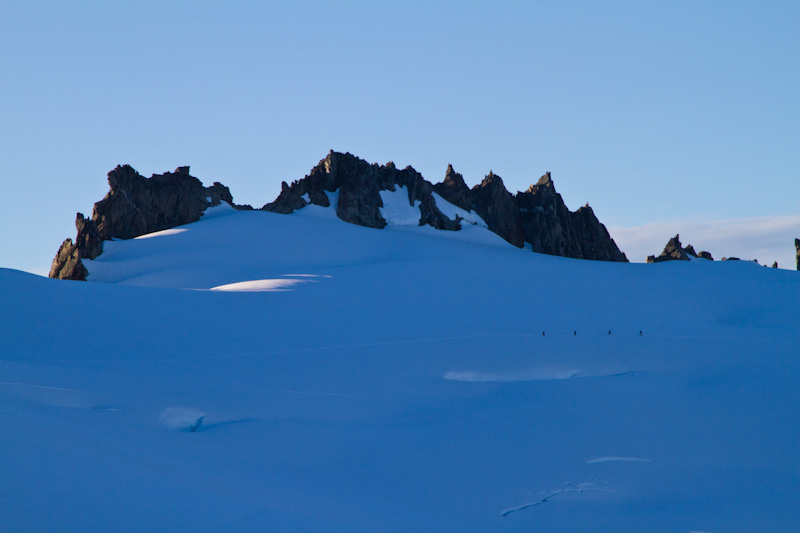
[[[103,241],[132,239],[197,222],[207,208],[223,201],[234,205],[227,187],[216,182],[203,187],[189,175],[189,167],[148,179],[130,165],[122,165],[108,173],[108,185],[105,198],[94,204],[91,219],[77,214],[77,237],[61,245],[50,268],[51,278],[85,280],[88,271],[81,259],[100,255]]]

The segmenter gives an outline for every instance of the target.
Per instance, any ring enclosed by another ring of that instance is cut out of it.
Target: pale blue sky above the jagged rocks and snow
[[[260,207],[330,149],[512,192],[550,171],[634,261],[689,224],[793,267],[798,28],[794,1],[0,0],[0,267],[46,273],[118,164]]]

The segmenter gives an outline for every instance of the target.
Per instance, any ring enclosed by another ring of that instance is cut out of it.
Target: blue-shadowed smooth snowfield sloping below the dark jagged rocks
[[[800,273],[394,200],[0,269],[0,530],[800,531]]]

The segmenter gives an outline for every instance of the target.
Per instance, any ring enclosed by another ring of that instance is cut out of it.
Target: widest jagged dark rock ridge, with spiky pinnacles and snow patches
[[[587,205],[569,211],[553,185],[550,173],[526,192],[511,194],[500,176],[489,174],[472,189],[452,165],[444,181],[431,185],[412,167],[402,170],[394,163],[368,163],[349,153],[331,151],[303,179],[291,185],[283,183],[274,202],[263,207],[275,213],[292,213],[309,204],[329,207],[326,193],[338,193],[336,215],[346,221],[371,228],[383,228],[380,191],[405,187],[409,205],[419,203],[419,225],[441,230],[461,228],[458,215],[448,218],[437,206],[434,193],[450,204],[474,212],[489,230],[517,247],[526,243],[534,252],[627,262],[605,226]]]

